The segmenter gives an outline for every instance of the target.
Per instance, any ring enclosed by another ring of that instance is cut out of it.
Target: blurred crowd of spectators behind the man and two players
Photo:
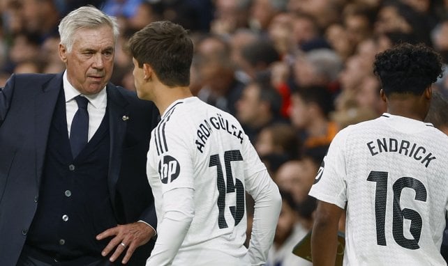
[[[86,4],[119,19],[112,82],[129,90],[135,31],[162,19],[190,30],[193,94],[239,119],[281,189],[273,266],[308,265],[290,250],[313,224],[308,189],[331,139],[386,111],[375,54],[411,42],[448,59],[447,0],[0,0],[0,87],[12,73],[63,71],[57,25]],[[448,94],[445,76],[435,90]]]

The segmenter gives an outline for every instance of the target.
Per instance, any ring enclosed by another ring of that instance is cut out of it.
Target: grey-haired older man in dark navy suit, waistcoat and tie
[[[110,84],[117,22],[93,6],[59,24],[60,74],[0,90],[0,265],[144,265],[152,102]]]

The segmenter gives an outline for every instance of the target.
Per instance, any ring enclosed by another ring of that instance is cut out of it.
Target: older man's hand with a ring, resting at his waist
[[[126,264],[135,249],[143,244],[146,244],[155,234],[156,232],[154,231],[154,228],[137,221],[133,224],[124,224],[107,229],[103,233],[97,235],[96,240],[103,240],[107,237],[113,237],[105,249],[103,249],[101,255],[107,256],[110,251],[115,249],[112,256],[110,256],[110,261],[114,262],[125,249],[128,249],[126,251],[126,256],[124,256],[121,261],[121,263]]]

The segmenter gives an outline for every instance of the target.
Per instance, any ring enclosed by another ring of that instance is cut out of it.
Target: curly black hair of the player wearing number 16
[[[442,77],[442,58],[431,47],[402,43],[375,56],[373,72],[386,95],[421,95]]]

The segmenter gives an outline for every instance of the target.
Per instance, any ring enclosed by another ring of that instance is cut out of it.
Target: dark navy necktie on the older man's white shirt
[[[84,146],[86,146],[87,136],[89,134],[89,113],[87,112],[89,100],[80,95],[76,96],[75,100],[78,109],[70,127],[70,146],[72,148],[73,158],[76,158]]]

